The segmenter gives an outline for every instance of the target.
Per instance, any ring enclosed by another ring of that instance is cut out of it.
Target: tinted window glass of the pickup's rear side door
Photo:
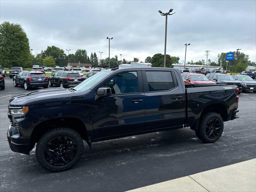
[[[174,88],[172,74],[168,71],[146,71],[149,91],[163,91]]]

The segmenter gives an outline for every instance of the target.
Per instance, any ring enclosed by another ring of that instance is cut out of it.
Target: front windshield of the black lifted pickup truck
[[[104,77],[108,76],[108,74],[112,73],[113,71],[102,71],[94,76],[91,76],[90,78],[84,80],[84,82],[78,84],[75,89],[77,91],[85,91],[90,89],[92,86],[96,85],[100,80],[102,80]]]

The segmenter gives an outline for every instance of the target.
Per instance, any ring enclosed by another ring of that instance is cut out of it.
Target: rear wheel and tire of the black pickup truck
[[[196,136],[205,143],[216,142],[224,128],[222,117],[218,113],[208,112],[200,120]]]

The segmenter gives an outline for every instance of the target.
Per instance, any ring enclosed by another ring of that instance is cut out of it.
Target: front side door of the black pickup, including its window
[[[120,72],[101,87],[111,88],[111,96],[92,104],[95,138],[141,132],[145,129],[145,94],[141,70]]]

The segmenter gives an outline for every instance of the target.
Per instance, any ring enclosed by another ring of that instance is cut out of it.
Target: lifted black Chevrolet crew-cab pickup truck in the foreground
[[[78,162],[83,140],[91,148],[100,140],[190,127],[212,143],[237,112],[237,86],[185,86],[173,68],[114,68],[74,88],[14,96],[7,138],[14,152],[29,154],[36,144],[40,165],[62,171]]]

